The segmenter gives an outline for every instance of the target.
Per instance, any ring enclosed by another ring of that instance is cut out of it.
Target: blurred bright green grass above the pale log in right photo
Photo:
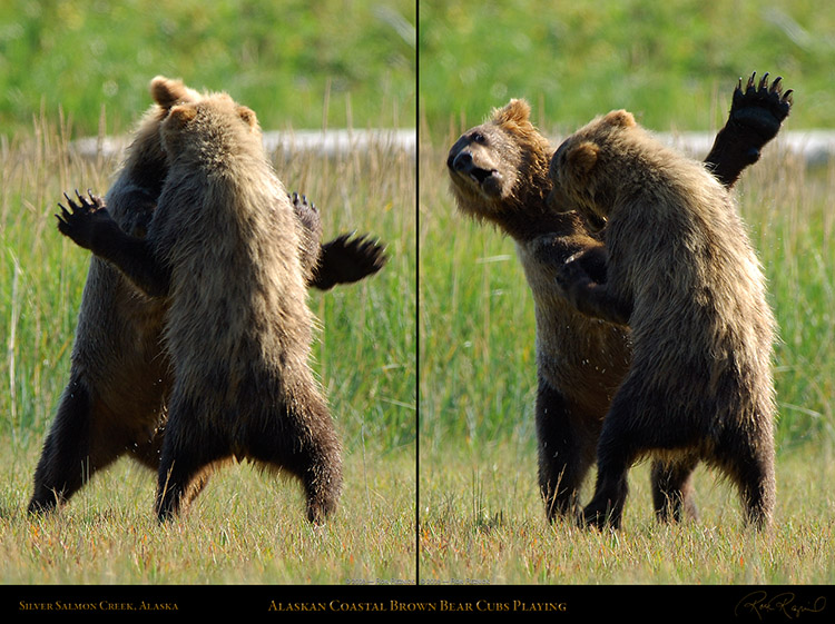
[[[422,0],[419,20],[432,128],[451,116],[472,126],[524,97],[548,130],[613,108],[703,130],[724,122],[725,93],[755,70],[795,89],[793,127],[835,123],[835,8],[821,0]]]

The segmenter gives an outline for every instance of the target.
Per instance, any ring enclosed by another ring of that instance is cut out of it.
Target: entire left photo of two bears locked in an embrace
[[[416,583],[415,2],[0,23],[2,583]]]

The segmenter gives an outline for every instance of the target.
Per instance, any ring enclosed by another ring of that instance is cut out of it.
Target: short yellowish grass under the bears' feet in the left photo
[[[295,482],[248,464],[218,471],[190,513],[170,525],[158,525],[151,513],[155,477],[130,462],[97,475],[61,514],[29,519],[20,506],[36,460],[31,447],[14,464],[2,463],[3,584],[318,585],[415,577],[409,449],[352,448],[342,508],[320,528],[305,521]]]

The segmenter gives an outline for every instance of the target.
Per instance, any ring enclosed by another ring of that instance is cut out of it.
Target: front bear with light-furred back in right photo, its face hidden
[[[557,149],[556,209],[606,222],[606,280],[580,263],[558,280],[583,314],[631,328],[632,360],[598,442],[586,522],[618,527],[627,472],[644,456],[719,467],[748,523],[775,503],[775,321],[734,200],[700,162],[662,146],[623,110]]]

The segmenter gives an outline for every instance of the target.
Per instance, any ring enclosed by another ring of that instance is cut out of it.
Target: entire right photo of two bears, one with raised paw
[[[694,608],[737,615],[793,585],[819,610],[834,26],[419,2],[420,584],[713,586]]]

